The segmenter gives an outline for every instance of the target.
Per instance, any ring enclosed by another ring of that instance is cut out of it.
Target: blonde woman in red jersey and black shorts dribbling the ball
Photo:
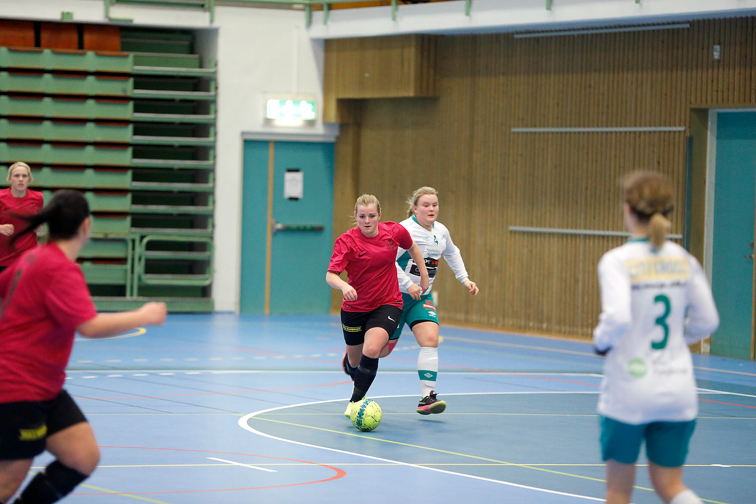
[[[346,342],[344,367],[355,381],[352,404],[361,400],[378,371],[378,354],[399,325],[401,292],[396,277],[396,251],[407,250],[420,270],[420,286],[428,289],[428,271],[420,248],[396,222],[380,222],[380,203],[363,194],[355,203],[353,227],[336,239],[326,282],[344,294],[341,325]],[[339,277],[346,271],[349,282]]]

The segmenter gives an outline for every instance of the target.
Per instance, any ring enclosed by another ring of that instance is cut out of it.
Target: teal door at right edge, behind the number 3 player
[[[719,113],[711,290],[720,326],[711,354],[751,359],[756,113]]]

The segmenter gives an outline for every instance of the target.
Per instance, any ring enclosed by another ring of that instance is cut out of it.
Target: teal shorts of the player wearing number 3
[[[634,464],[640,445],[646,441],[646,458],[656,465],[680,467],[685,464],[688,445],[696,420],[689,422],[651,422],[631,425],[599,416],[602,459]]]

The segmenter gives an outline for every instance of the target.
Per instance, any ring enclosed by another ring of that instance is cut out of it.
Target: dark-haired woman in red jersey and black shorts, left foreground
[[[42,212],[23,220],[26,226],[13,240],[45,223],[49,238],[0,274],[0,502],[10,502],[33,458],[47,450],[54,462],[29,481],[14,504],[50,504],[88,478],[100,459],[95,434],[63,389],[74,332],[98,338],[162,324],[166,305],[95,311],[75,262],[91,226],[80,193],[59,191]]]

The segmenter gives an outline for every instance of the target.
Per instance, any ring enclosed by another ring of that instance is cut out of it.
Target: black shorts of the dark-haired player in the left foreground
[[[48,436],[86,421],[64,390],[52,400],[0,403],[0,460],[33,459]]]

